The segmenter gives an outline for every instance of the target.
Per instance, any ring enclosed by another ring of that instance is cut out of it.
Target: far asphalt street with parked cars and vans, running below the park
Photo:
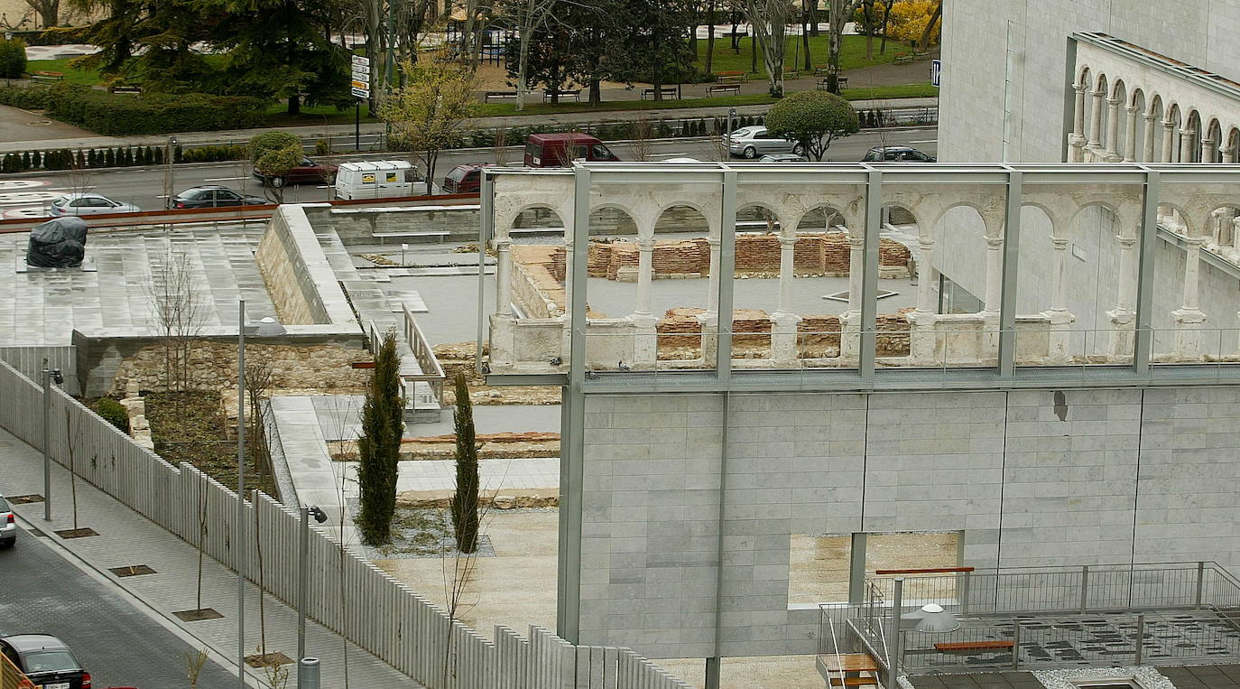
[[[937,150],[937,135],[939,133],[935,128],[889,130],[885,135],[885,144],[911,145],[934,155]],[[857,134],[833,143],[823,159],[832,161],[861,160],[867,150],[883,143],[880,135],[877,133]],[[634,159],[631,144],[615,144],[611,145],[611,149],[621,159]],[[667,158],[714,160],[718,155],[718,146],[713,137],[653,142],[650,149],[650,158],[652,160],[663,160]],[[346,160],[404,158],[408,155],[357,154],[336,156],[332,160],[340,163]],[[520,164],[521,158],[522,151],[520,148],[512,146],[508,149],[508,164]],[[495,150],[448,151],[439,158],[439,163],[435,166],[435,176],[443,179],[444,174],[461,163],[484,161],[495,161]],[[46,173],[0,180],[0,215],[4,217],[40,216],[43,215],[43,205],[51,202],[56,196],[68,191],[86,190],[103,194],[118,201],[135,204],[144,210],[159,210],[164,207],[165,173],[164,168],[133,168],[107,173]],[[250,176],[249,165],[246,163],[177,165],[174,175],[174,189],[176,191],[182,191],[200,184],[219,184],[237,191],[262,196],[262,189]],[[288,187],[284,191],[284,201],[325,201],[330,197],[330,191],[324,185],[308,184]]]

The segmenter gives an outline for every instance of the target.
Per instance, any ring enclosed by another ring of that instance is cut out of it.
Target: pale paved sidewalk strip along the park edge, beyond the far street
[[[805,81],[805,79],[801,79]],[[810,79],[812,81],[812,79]],[[753,82],[750,82],[753,83]],[[688,87],[686,87],[688,88]],[[704,87],[703,87],[704,88]],[[810,89],[812,89],[812,83]],[[925,108],[935,107],[939,104],[937,98],[899,98],[899,99],[874,99],[874,101],[853,101],[853,108],[858,110],[875,109],[875,108]],[[587,122],[629,122],[637,118],[647,119],[697,119],[697,118],[713,118],[713,117],[728,117],[728,107],[714,106],[704,108],[667,108],[667,109],[651,109],[651,110],[603,110],[603,112],[583,112],[583,113],[560,113],[560,114],[542,114],[542,115],[502,115],[502,117],[482,117],[474,119],[471,122],[471,128],[475,129],[491,129],[497,127],[529,127],[532,124],[574,124],[574,123],[587,123]],[[737,114],[753,115],[761,114],[770,109],[769,104],[765,106],[737,106]],[[15,108],[5,108],[0,106],[0,110],[9,113],[24,110],[15,110]],[[382,122],[363,122],[361,125],[362,134],[377,134],[383,132],[386,125]],[[249,142],[255,134],[263,132],[272,132],[272,128],[258,128],[258,129],[228,129],[222,132],[181,132],[176,134],[177,140],[182,145],[187,144],[205,144],[205,143],[231,143],[242,144]],[[348,138],[353,135],[352,124],[315,124],[306,127],[283,127],[279,128],[280,132],[288,132],[303,140],[312,139],[326,139],[326,138]],[[66,137],[62,139],[42,139],[42,140],[24,140],[24,142],[0,142],[0,153],[9,151],[22,151],[22,150],[40,150],[40,149],[53,149],[53,148],[107,148],[107,146],[120,146],[120,145],[148,145],[148,146],[162,146],[167,145],[166,134],[156,134],[149,137]]]

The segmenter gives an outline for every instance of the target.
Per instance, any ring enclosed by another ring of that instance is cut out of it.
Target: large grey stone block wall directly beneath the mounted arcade
[[[977,567],[1240,565],[1238,387],[724,403],[587,395],[580,643],[702,658],[718,622],[724,655],[815,653],[817,610],[789,605],[792,534],[960,531]]]

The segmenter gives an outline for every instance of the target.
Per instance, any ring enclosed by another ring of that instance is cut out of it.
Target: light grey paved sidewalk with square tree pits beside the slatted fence
[[[4,473],[0,478],[4,480],[2,490],[5,494],[21,495],[43,492],[42,454],[2,430],[0,430],[0,464],[4,466]],[[47,539],[56,541],[89,564],[104,579],[115,582],[119,588],[144,601],[150,606],[153,613],[164,617],[172,626],[192,636],[196,642],[191,643],[210,647],[218,655],[232,660],[232,670],[236,672],[236,575],[217,561],[210,557],[205,559],[202,606],[215,608],[223,617],[201,622],[181,622],[172,616],[172,612],[197,607],[195,593],[198,551],[83,480],[77,482],[78,525],[89,526],[99,535],[61,539],[52,531],[73,526],[68,477],[67,469],[60,464],[52,464],[53,520],[50,524],[43,521],[42,503],[14,505],[14,510],[27,523],[43,531]],[[19,535],[19,539],[30,538],[36,536],[29,531]],[[146,565],[154,569],[155,574],[120,579],[108,571],[109,567],[130,565]],[[254,648],[259,644],[258,603],[257,586],[247,585],[247,653],[254,653]],[[296,611],[278,602],[272,596],[265,597],[264,605],[267,608],[268,653],[280,652],[289,658],[295,658],[298,649]],[[100,643],[107,643],[107,639],[100,639]],[[314,622],[308,622],[306,654],[320,658],[325,689],[346,687],[342,646],[340,636]],[[420,687],[352,643],[347,644],[347,648],[348,687]],[[285,667],[290,670],[289,685],[295,685],[295,667]],[[252,687],[267,687],[267,677],[262,670],[249,669],[248,672]]]

